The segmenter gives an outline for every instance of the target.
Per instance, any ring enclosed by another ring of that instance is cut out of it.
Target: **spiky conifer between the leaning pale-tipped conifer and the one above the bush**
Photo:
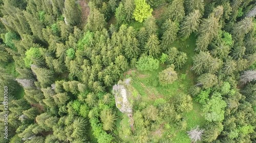
[[[168,19],[163,24],[163,27],[164,27],[164,33],[163,33],[162,39],[164,44],[168,45],[173,43],[176,40],[177,33],[179,31],[178,24]]]

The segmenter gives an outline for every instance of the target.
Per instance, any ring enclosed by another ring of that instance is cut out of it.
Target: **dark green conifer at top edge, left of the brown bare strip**
[[[75,0],[65,1],[65,8],[63,9],[65,22],[70,25],[77,25],[80,23],[81,11],[79,10]]]

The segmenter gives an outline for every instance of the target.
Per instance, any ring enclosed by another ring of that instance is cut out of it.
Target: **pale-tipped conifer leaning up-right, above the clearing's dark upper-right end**
[[[182,23],[181,26],[181,36],[183,38],[188,38],[189,35],[192,32],[197,32],[199,23],[200,23],[200,18],[202,17],[201,13],[199,10],[194,10],[193,12],[189,13],[185,19],[184,23]]]

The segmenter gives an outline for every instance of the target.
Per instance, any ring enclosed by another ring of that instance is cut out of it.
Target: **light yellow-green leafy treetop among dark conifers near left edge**
[[[34,59],[39,59],[42,55],[39,48],[31,47],[25,53],[26,57],[24,58],[24,62],[26,67],[30,67],[33,64]]]

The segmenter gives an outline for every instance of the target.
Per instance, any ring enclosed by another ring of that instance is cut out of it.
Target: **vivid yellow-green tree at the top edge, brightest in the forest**
[[[153,9],[146,3],[146,0],[135,0],[135,10],[133,16],[136,21],[142,22],[148,16],[151,16]]]

